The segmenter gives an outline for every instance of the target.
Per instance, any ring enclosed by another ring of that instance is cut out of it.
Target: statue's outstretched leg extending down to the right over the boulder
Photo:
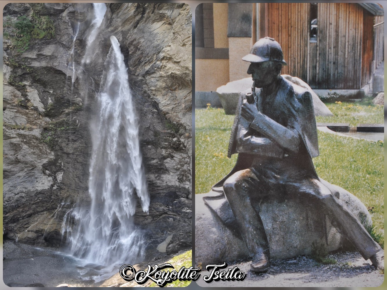
[[[296,187],[291,189],[289,187]],[[364,259],[371,259],[374,262],[375,255],[384,252],[380,245],[375,242],[360,221],[348,210],[340,199],[331,194],[320,180],[309,178],[300,183],[288,184],[288,192],[297,192],[301,197],[306,197],[321,205],[324,212],[333,218],[335,226],[353,243]],[[375,265],[378,266],[378,265]]]

